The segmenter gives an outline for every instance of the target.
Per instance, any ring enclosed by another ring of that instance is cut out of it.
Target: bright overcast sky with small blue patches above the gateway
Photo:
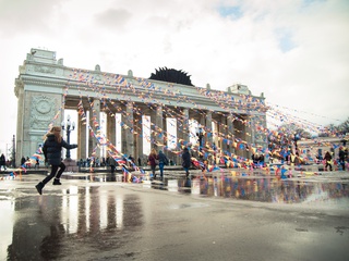
[[[14,80],[31,48],[64,65],[198,87],[240,83],[313,123],[348,119],[347,0],[0,0],[0,151],[16,128]]]

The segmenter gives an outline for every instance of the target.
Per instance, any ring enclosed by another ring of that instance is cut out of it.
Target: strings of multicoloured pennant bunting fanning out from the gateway
[[[135,78],[135,80],[139,83],[140,87],[134,87],[132,83],[128,83],[128,80],[120,74],[108,74],[104,73],[98,79],[95,78],[91,74],[89,71],[86,70],[73,70],[72,74],[70,75],[70,79],[68,80],[63,94],[63,100],[61,108],[58,110],[57,114],[53,116],[51,123],[48,126],[48,129],[50,129],[51,126],[53,126],[53,123],[59,119],[59,115],[64,110],[65,107],[65,99],[69,95],[69,88],[76,89],[80,96],[80,102],[77,104],[77,113],[81,116],[81,121],[83,125],[88,125],[88,129],[91,133],[91,136],[95,138],[98,142],[98,146],[107,146],[107,151],[110,157],[113,159],[122,159],[120,158],[123,156],[123,153],[117,151],[115,149],[115,146],[110,144],[110,141],[107,139],[107,137],[104,137],[100,132],[100,126],[97,121],[96,111],[93,107],[93,100],[88,95],[85,96],[83,92],[93,91],[95,94],[95,97],[100,100],[100,104],[103,110],[108,113],[110,116],[115,116],[115,112],[121,113],[123,122],[120,122],[120,126],[124,129],[129,129],[133,134],[142,134],[142,123],[134,124],[134,120],[130,112],[127,112],[122,109],[122,107],[119,107],[118,104],[122,104],[124,108],[128,108],[128,103],[132,102],[133,107],[133,113],[142,116],[143,111],[141,108],[137,107],[137,104],[130,100],[130,96],[128,94],[132,94],[133,96],[136,96],[144,104],[146,104],[151,110],[156,112],[157,105],[161,105],[163,113],[167,117],[174,117],[178,121],[178,127],[186,126],[188,120],[183,117],[183,115],[177,111],[178,109],[177,104],[181,104],[183,102],[191,104],[191,110],[195,111],[200,115],[205,115],[206,111],[209,111],[206,107],[203,107],[201,104],[196,104],[193,100],[191,100],[188,96],[183,96],[179,90],[176,90],[172,88],[172,84],[168,85],[167,89],[164,89],[161,87],[156,86],[154,83],[151,83],[146,78]],[[75,83],[75,86],[71,83]],[[113,88],[111,92],[111,88]],[[296,117],[294,115],[291,115],[289,113],[285,113],[282,110],[286,110],[288,112],[292,112],[291,109],[282,108],[275,104],[266,104],[264,99],[257,99],[255,97],[252,97],[251,95],[239,95],[239,94],[227,94],[225,91],[210,91],[205,88],[198,88],[195,87],[197,95],[203,96],[205,98],[210,99],[215,104],[222,108],[227,113],[230,115],[231,121],[239,122],[240,125],[245,126],[245,129],[250,129],[249,132],[245,132],[245,137],[252,137],[252,135],[262,135],[263,137],[269,137],[270,140],[274,138],[280,139],[282,136],[288,134],[288,129],[284,129],[282,133],[278,133],[275,129],[268,129],[265,126],[265,122],[261,121],[260,115],[263,115],[263,113],[266,113],[268,117],[270,117],[275,123],[274,127],[279,127],[280,124],[285,123],[292,123],[297,128],[301,128],[311,133],[318,132],[320,129],[325,129],[323,126],[312,124],[308,121],[301,120],[299,117]],[[118,94],[118,95],[116,95]],[[171,109],[169,107],[166,107],[164,104],[164,101],[155,99],[155,94],[161,94],[163,97],[169,97],[168,103],[173,104],[174,109]],[[84,111],[83,107],[83,98],[87,98],[87,101],[91,107],[92,111],[92,125],[89,125],[86,122],[86,112]],[[118,101],[118,102],[116,102]],[[240,112],[244,111],[250,116],[248,119],[242,119],[239,116]],[[294,110],[293,112],[299,112]],[[222,114],[220,112],[215,112],[217,114]],[[260,113],[260,114],[256,114]],[[264,120],[265,121],[265,120]],[[241,133],[240,129],[229,129],[228,125],[225,125],[221,122],[217,122],[213,120],[213,122],[218,126],[218,129],[225,129],[224,134],[221,132],[215,133],[217,136],[218,141],[221,144],[226,144],[227,146],[232,146],[234,149],[242,150],[242,151],[251,151],[252,153],[256,153],[257,151],[261,151],[263,153],[270,153],[276,157],[281,157],[282,151],[276,149],[273,149],[272,151],[268,151],[267,148],[256,148],[254,144],[249,144],[246,140],[243,140],[241,138],[236,138],[236,134]],[[277,124],[277,122],[279,124]],[[171,139],[171,135],[161,129],[159,126],[156,126],[154,123],[152,124],[152,136],[164,138],[165,140]],[[94,128],[92,127],[94,126]],[[94,130],[95,129],[95,130]],[[254,133],[252,133],[252,129]],[[212,129],[208,129],[207,127],[203,126],[204,135],[208,138],[213,137]],[[251,133],[250,133],[251,132]],[[191,134],[195,136],[195,134]],[[152,137],[145,137],[146,140],[149,142],[157,145],[157,146],[164,146],[164,150],[168,150],[169,148],[161,142],[156,142]],[[249,138],[250,139],[250,138]],[[214,145],[209,145],[206,142],[205,148],[198,147],[198,145],[191,145],[188,141],[178,140],[177,147],[171,150],[174,154],[181,153],[181,150],[185,146],[191,146],[191,149],[198,154],[203,156],[204,158],[207,158],[208,152],[216,152],[216,148]],[[97,147],[96,147],[97,148]],[[94,159],[96,154],[96,148],[92,152],[92,157]],[[336,149],[337,146],[334,146],[334,149]],[[230,153],[229,151],[220,151],[220,157],[224,160],[224,163],[227,165],[227,167],[243,167],[243,169],[251,169],[252,164],[250,159],[245,159],[236,154]],[[36,152],[31,157],[31,159],[36,160],[40,159],[40,153]],[[310,159],[310,158],[308,158]],[[215,171],[219,169],[215,169],[215,166],[208,166],[205,165],[203,167],[203,162],[194,161],[197,164],[197,167],[204,169],[205,171]],[[137,166],[135,166],[134,163],[128,161],[123,164],[131,165],[136,171],[143,171],[140,170]],[[194,163],[194,164],[195,164]],[[258,166],[260,169],[270,171],[267,166]],[[22,170],[22,169],[21,169]],[[275,171],[274,169],[272,169]],[[276,170],[277,171],[277,170]],[[143,171],[142,174],[145,172]]]

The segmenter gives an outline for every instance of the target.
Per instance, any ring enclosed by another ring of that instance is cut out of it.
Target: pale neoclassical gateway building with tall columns
[[[122,75],[101,72],[99,65],[89,71],[68,67],[55,51],[32,49],[20,66],[14,90],[16,164],[23,156],[36,153],[50,125],[61,125],[64,110],[75,110],[79,119],[77,159],[100,157],[103,147],[109,154],[137,159],[144,154],[144,142],[177,161],[184,146],[204,157],[213,151],[248,158],[252,149],[266,148],[263,94],[253,96],[243,85],[226,91],[210,89],[208,84],[195,87],[182,71],[165,67],[140,78],[131,70]],[[101,113],[106,115],[104,133]],[[168,119],[174,124],[169,125]],[[145,126],[151,129],[147,137]],[[121,149],[116,150],[118,135]]]

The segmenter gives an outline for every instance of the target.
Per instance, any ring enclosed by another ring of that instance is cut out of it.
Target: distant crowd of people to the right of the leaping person
[[[238,156],[224,156],[216,152],[213,153],[203,153],[197,154],[197,158],[194,157],[195,152],[191,148],[183,148],[181,152],[181,164],[185,176],[190,176],[190,169],[198,169],[204,171],[212,171],[218,165],[225,165],[227,167],[243,167],[243,169],[263,169],[272,164],[286,164],[290,166],[300,166],[304,164],[323,164],[325,171],[333,171],[334,165],[338,165],[338,169],[346,170],[346,163],[348,162],[348,150],[344,147],[339,148],[338,159],[334,159],[334,154],[330,151],[326,151],[324,157],[317,154],[313,157],[308,150],[306,153],[300,153],[298,150],[296,152],[290,149],[280,149],[269,151],[267,154],[262,151],[256,151],[252,154],[251,160]],[[87,166],[88,166],[87,160]],[[157,151],[155,148],[151,150],[151,153],[146,159],[139,158],[137,162],[135,159],[130,156],[128,159],[121,161],[115,161],[111,157],[107,157],[106,160],[103,160],[105,166],[110,166],[111,174],[115,174],[116,167],[121,165],[124,170],[132,171],[134,165],[144,166],[148,165],[151,167],[151,173],[154,179],[157,178],[157,167],[159,170],[159,178],[164,178],[164,167],[165,165],[172,165],[173,161],[169,160],[164,151]],[[143,164],[142,164],[143,162]],[[84,163],[85,164],[85,163]],[[98,161],[95,163],[98,164]],[[100,164],[100,166],[104,166]]]

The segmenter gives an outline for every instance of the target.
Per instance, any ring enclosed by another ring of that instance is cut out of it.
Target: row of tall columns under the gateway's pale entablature
[[[98,126],[100,126],[100,101],[95,99],[89,108],[88,123],[84,122],[82,115],[79,115],[79,148],[77,159],[86,159],[92,156],[93,152],[98,157],[100,156],[100,148],[97,146],[98,140],[93,135],[87,134],[86,124],[91,126],[91,130],[95,134],[98,133]],[[170,137],[167,129],[168,116],[164,113],[163,105],[145,107],[143,103],[135,103],[133,101],[123,102],[121,113],[121,121],[116,121],[116,114],[118,112],[107,113],[106,123],[106,138],[108,141],[116,146],[117,144],[117,125],[121,127],[121,153],[125,156],[132,156],[134,159],[143,158],[144,156],[144,139],[143,127],[145,123],[142,116],[148,116],[151,120],[151,147],[157,151],[163,150],[174,162],[180,162],[178,151],[185,146],[196,146],[197,144],[191,144],[191,137],[196,133],[190,133],[190,121],[196,121],[204,129],[204,147],[216,147],[216,151],[221,154],[238,153],[242,157],[249,157],[245,149],[237,149],[232,144],[236,138],[244,140],[246,142],[253,142],[252,136],[246,135],[251,132],[251,127],[241,124],[240,121],[234,121],[233,116],[228,113],[214,113],[212,111],[201,111],[197,113],[195,110],[189,108],[172,108],[176,110],[177,117],[174,119],[177,124],[176,128],[176,145],[174,149],[168,149],[167,142]],[[139,113],[135,108],[142,108],[142,113]],[[88,109],[86,108],[86,111]],[[246,115],[244,115],[246,116]],[[241,115],[243,117],[243,115]],[[171,117],[173,119],[173,117]],[[238,132],[237,132],[238,130]],[[87,138],[88,137],[88,138]],[[198,142],[198,137],[195,137],[195,142]],[[87,144],[88,142],[88,146]],[[85,148],[88,148],[87,150]],[[95,151],[94,151],[95,150]]]

